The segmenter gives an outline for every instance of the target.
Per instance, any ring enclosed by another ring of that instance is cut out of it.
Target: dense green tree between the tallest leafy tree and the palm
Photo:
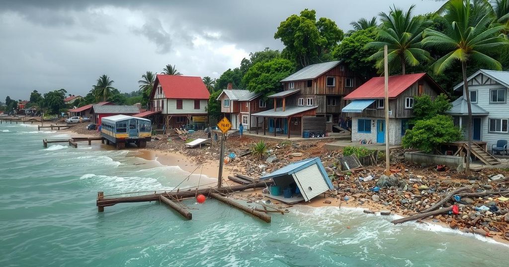
[[[370,56],[378,49],[365,45],[375,41],[375,37],[375,27],[359,29],[343,39],[341,44],[334,48],[332,55],[337,60],[343,60],[350,70],[367,80],[376,75],[375,60],[370,59]]]

